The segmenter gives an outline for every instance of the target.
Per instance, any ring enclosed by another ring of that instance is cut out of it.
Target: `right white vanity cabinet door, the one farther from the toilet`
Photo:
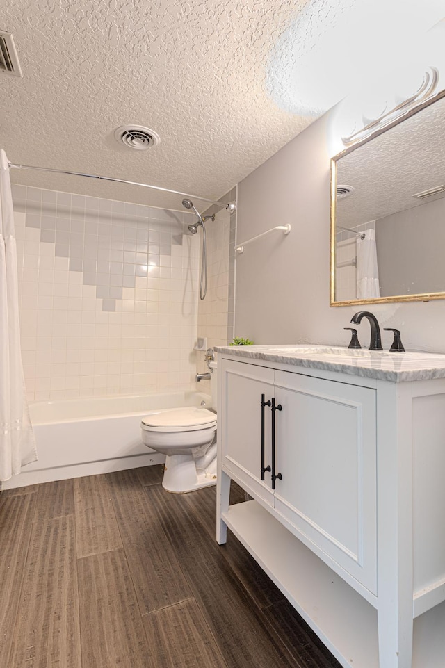
[[[276,512],[375,594],[375,390],[276,371],[275,401]]]

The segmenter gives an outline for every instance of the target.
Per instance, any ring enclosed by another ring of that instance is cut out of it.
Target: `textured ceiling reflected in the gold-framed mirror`
[[[355,227],[442,197],[414,193],[445,184],[445,98],[337,162],[337,184],[355,188],[337,202],[337,222]]]

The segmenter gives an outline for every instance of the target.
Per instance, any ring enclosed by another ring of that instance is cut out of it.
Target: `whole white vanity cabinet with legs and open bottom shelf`
[[[231,529],[345,668],[444,668],[445,356],[357,373],[255,348],[218,350],[218,543]],[[252,500],[229,506],[231,479]]]

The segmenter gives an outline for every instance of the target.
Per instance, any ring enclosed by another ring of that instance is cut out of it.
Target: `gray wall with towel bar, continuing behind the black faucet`
[[[238,184],[237,243],[275,225],[236,259],[236,336],[255,343],[346,344],[362,307],[329,305],[330,147],[334,112],[316,120]],[[338,141],[337,141],[338,145]],[[445,301],[375,304],[385,327],[402,330],[407,350],[445,352]],[[391,336],[383,333],[384,346]],[[363,345],[369,326],[359,325]]]

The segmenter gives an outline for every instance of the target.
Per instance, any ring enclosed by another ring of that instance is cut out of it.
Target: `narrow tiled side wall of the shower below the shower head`
[[[236,188],[221,198],[223,202],[236,201]],[[199,300],[197,335],[207,336],[207,345],[227,345],[234,337],[234,293],[235,293],[235,242],[236,213],[212,206],[206,215],[215,213],[215,220],[208,220],[207,275],[208,288],[205,300]],[[200,230],[199,234],[202,234]],[[202,238],[200,238],[200,254]],[[200,255],[201,256],[201,255]],[[197,370],[207,371],[204,355],[197,353]],[[200,383],[201,389],[210,391],[208,382]]]

